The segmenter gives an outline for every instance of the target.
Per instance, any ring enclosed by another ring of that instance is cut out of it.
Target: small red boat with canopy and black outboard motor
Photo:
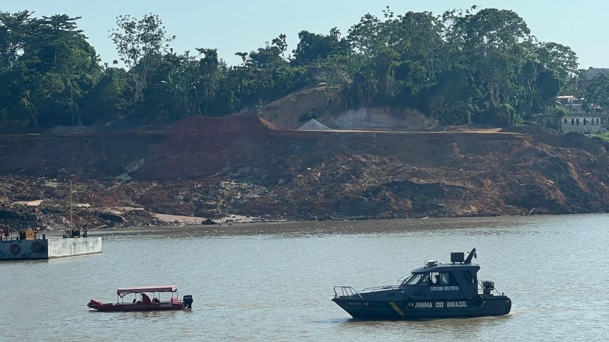
[[[147,293],[151,293],[154,299],[151,300]],[[161,300],[161,293],[171,293],[171,299]],[[125,302],[125,296],[130,294],[133,294],[135,298],[131,302]],[[98,311],[130,312],[181,310],[184,308],[190,309],[192,305],[193,296],[185,295],[182,301],[179,301],[178,287],[176,285],[169,285],[144,286],[141,288],[119,288],[116,290],[116,304],[102,303],[98,300],[91,300],[86,306],[88,306],[90,309],[96,309]]]

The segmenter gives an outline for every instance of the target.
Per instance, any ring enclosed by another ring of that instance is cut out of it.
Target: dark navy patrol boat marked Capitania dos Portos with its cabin
[[[399,285],[365,288],[334,286],[334,301],[355,319],[480,317],[508,314],[512,302],[492,281],[478,281],[476,249],[450,253],[450,264],[426,261]]]

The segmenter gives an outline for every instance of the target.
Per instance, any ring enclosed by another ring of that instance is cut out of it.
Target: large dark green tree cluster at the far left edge
[[[95,49],[76,28],[79,18],[30,15],[0,14],[0,78],[6,86],[0,104],[5,122],[81,124],[79,102],[101,76]]]

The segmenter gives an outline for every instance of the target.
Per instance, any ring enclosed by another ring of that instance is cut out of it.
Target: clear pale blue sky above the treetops
[[[576,52],[581,68],[609,67],[609,1],[607,0],[4,0],[0,11],[34,11],[34,16],[67,14],[82,17],[77,23],[103,62],[118,59],[108,38],[116,17],[129,14],[142,18],[159,15],[167,33],[176,35],[176,52],[195,47],[216,48],[220,58],[239,64],[235,52],[263,47],[280,33],[288,35],[288,51],[298,33],[328,34],[335,26],[343,35],[365,13],[382,17],[390,6],[394,13],[431,11],[441,14],[452,8],[484,8],[515,11],[542,42],[557,42]]]

